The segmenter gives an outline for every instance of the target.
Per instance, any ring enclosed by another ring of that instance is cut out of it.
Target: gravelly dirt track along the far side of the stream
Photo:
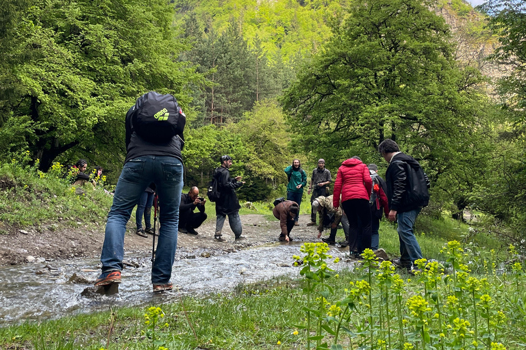
[[[299,226],[292,229],[290,237],[295,241],[318,241],[316,226],[306,226],[310,215],[301,215]],[[228,222],[223,228],[223,238],[227,242],[214,241],[215,217],[210,217],[197,231],[199,235],[179,233],[177,249],[185,254],[192,252],[225,251],[233,252],[242,247],[262,245],[277,241],[279,221],[267,220],[264,215],[242,215],[243,236],[246,239],[234,242]],[[16,265],[33,260],[53,261],[71,259],[79,256],[97,257],[104,240],[104,226],[92,224],[84,228],[51,230],[52,225],[42,230],[32,228],[6,228],[8,234],[0,235],[0,265]],[[151,250],[151,236],[143,238],[136,235],[132,221],[128,222],[125,235],[125,250],[128,252],[147,252]]]

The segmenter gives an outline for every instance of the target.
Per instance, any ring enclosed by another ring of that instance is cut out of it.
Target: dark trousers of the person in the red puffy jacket
[[[371,208],[368,200],[346,200],[343,211],[349,219],[349,250],[362,254],[371,249]]]

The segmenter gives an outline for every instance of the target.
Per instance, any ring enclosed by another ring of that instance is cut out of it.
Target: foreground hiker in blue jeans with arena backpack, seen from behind
[[[179,202],[183,188],[183,131],[186,116],[171,94],[148,92],[126,114],[126,159],[108,213],[95,286],[121,283],[124,234],[132,210],[150,183],[160,206],[160,230],[151,269],[153,291],[169,291],[177,248]],[[157,206],[155,206],[157,208]],[[155,236],[153,236],[155,237]]]

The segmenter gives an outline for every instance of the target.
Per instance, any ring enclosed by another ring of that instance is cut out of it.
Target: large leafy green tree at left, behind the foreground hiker
[[[23,139],[42,170],[72,150],[122,160],[123,119],[135,98],[158,90],[186,105],[188,83],[200,80],[177,61],[184,46],[165,1],[147,8],[136,0],[36,1],[20,18],[8,52],[14,59],[1,76],[8,119],[0,135],[25,125]]]

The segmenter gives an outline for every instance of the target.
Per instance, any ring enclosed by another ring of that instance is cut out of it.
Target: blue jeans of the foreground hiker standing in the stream
[[[175,157],[165,156],[141,156],[125,163],[108,214],[101,254],[102,274],[99,278],[123,269],[126,223],[140,196],[152,182],[159,196],[161,227],[151,268],[151,282],[166,284],[170,281],[177,248],[183,163]]]

